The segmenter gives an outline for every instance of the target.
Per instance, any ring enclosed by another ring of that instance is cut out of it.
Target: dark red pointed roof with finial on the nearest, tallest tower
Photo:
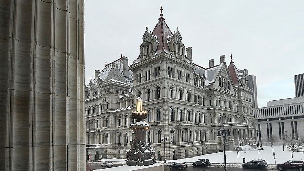
[[[169,29],[167,23],[164,21],[164,17],[163,17],[163,8],[161,7],[161,14],[158,19],[158,23],[156,24],[156,26],[154,27],[154,30],[152,32],[152,35],[157,37],[157,40],[159,42],[156,52],[157,53],[161,53],[161,52],[167,52],[167,53],[171,53],[170,52],[170,48],[167,44],[167,38],[168,36],[173,35],[171,30]]]

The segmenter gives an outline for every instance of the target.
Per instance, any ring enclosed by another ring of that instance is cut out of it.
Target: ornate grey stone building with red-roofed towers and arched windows
[[[132,65],[121,55],[95,70],[85,87],[87,159],[125,158],[134,138],[128,127],[137,97],[148,112],[147,141],[154,143],[158,160],[222,150],[217,129],[223,125],[231,133],[226,149],[234,150],[239,141],[254,143],[253,92],[247,72],[237,70],[232,56],[229,66],[225,55],[217,65],[213,59],[206,68],[195,64],[192,47],[185,48],[180,31],[169,29],[162,12],[142,39]]]

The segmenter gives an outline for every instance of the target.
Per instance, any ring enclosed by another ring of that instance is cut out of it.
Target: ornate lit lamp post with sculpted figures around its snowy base
[[[147,111],[143,110],[143,101],[138,97],[136,110],[132,112],[132,118],[135,121],[129,127],[134,132],[134,140],[130,141],[131,149],[126,153],[126,165],[147,166],[156,163],[154,148],[151,147],[152,142],[146,142],[146,132],[150,129],[150,125],[144,120],[147,116]]]

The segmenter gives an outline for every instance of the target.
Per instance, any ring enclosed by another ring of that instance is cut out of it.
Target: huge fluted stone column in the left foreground
[[[85,170],[83,9],[1,2],[0,170]]]

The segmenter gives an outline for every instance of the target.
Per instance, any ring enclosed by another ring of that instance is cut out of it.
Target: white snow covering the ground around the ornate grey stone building
[[[258,153],[257,148],[252,149],[249,151],[241,151],[239,153],[239,157],[237,157],[237,152],[236,151],[227,151],[226,152],[226,162],[229,163],[227,166],[229,167],[241,167],[240,164],[243,163],[243,157],[245,158],[246,162],[249,162],[250,160],[253,159],[264,159],[266,162],[269,164],[269,167],[274,167],[275,164],[275,159],[273,159],[273,153],[272,153],[272,147],[271,146],[263,146],[264,150],[261,150],[260,153]],[[285,146],[285,151],[283,151],[282,145],[274,146],[274,151],[275,151],[275,157],[276,157],[276,163],[284,163],[288,160],[291,160],[291,152],[288,150],[288,148]],[[222,167],[224,163],[224,152],[217,152],[217,153],[211,153],[211,154],[205,154],[205,155],[200,155],[192,158],[187,158],[187,159],[177,159],[177,160],[167,160],[164,163],[164,161],[158,161],[157,163],[163,163],[164,165],[171,165],[173,162],[185,162],[188,164],[188,166],[192,166],[192,162],[197,161],[198,159],[204,159],[207,158],[210,161],[210,166],[212,167]],[[302,152],[293,152],[293,159],[295,160],[303,160],[304,155]],[[98,162],[103,161],[111,161],[111,162],[117,162],[122,164],[122,162],[126,162],[126,159],[101,159]]]

